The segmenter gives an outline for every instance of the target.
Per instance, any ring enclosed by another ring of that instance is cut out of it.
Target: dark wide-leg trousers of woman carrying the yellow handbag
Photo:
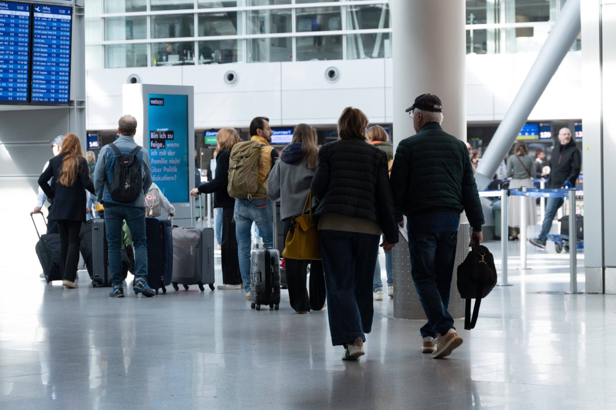
[[[331,344],[344,345],[372,330],[372,281],[379,236],[318,231],[325,273]],[[312,275],[312,274],[311,274]]]

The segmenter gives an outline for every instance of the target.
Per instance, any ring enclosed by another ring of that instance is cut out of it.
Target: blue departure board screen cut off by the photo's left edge
[[[30,4],[0,2],[0,101],[28,102]]]

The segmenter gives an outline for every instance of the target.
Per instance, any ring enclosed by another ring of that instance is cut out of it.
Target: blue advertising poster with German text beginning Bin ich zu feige
[[[148,131],[152,181],[170,202],[188,202],[188,96],[148,94]]]

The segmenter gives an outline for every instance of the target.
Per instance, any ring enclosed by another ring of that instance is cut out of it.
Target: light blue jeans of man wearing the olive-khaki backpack
[[[250,229],[253,222],[257,224],[263,246],[274,247],[274,221],[272,219],[272,202],[269,199],[236,199],[233,219],[235,219],[235,237],[237,238],[238,260],[240,261],[241,281],[244,290],[250,290]]]

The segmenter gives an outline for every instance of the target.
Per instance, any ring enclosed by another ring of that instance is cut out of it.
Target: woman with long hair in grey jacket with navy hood
[[[306,203],[312,176],[317,169],[317,132],[307,124],[299,124],[293,131],[293,140],[280,154],[267,183],[267,196],[280,199],[280,219],[288,235],[293,217],[301,215]],[[314,208],[316,200],[308,206]],[[321,261],[285,258],[286,282],[289,301],[296,313],[321,310],[325,303],[325,278]],[[310,295],[306,290],[306,272],[310,263]]]

